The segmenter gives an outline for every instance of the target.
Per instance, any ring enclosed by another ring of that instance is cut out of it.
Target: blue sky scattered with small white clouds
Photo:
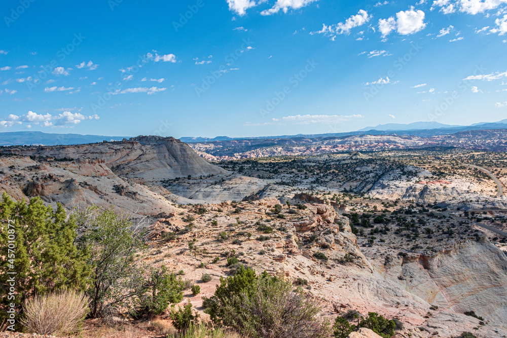
[[[507,118],[507,0],[5,0],[0,132],[268,136]]]

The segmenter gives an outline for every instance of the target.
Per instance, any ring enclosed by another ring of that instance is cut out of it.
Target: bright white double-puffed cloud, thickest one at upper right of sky
[[[394,29],[401,35],[414,34],[426,27],[424,16],[423,11],[415,11],[414,7],[412,7],[408,11],[396,13],[396,19],[394,17],[380,19],[378,24],[379,30],[382,33],[382,37],[385,37]]]

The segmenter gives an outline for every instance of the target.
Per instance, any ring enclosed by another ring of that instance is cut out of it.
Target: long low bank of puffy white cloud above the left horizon
[[[37,114],[33,111],[28,111],[25,115],[17,116],[17,115],[9,115],[6,120],[0,121],[0,126],[4,127],[12,127],[13,125],[20,125],[22,123],[30,123],[30,127],[32,124],[40,125],[44,127],[53,127],[53,126],[69,126],[76,125],[81,123],[84,120],[98,120],[100,119],[98,115],[92,116],[84,116],[79,112],[70,112],[64,111],[58,115],[51,114]],[[27,126],[28,127],[28,126]]]

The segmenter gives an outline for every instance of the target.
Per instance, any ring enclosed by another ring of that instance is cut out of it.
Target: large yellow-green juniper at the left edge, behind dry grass
[[[6,193],[0,200],[0,285],[16,289],[15,299],[8,292],[0,293],[0,322],[6,319],[8,305],[14,304],[18,315],[25,301],[34,294],[44,295],[65,288],[85,290],[91,267],[88,250],[75,245],[76,219],[65,209],[46,207],[36,197],[29,202],[13,201]],[[14,241],[15,259],[12,249]],[[10,267],[13,265],[13,267]],[[7,272],[15,271],[14,285]],[[10,307],[10,306],[9,306]],[[19,325],[18,325],[19,326]],[[18,327],[20,328],[20,327]]]

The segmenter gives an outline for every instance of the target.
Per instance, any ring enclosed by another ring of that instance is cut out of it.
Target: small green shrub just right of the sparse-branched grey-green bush
[[[183,301],[185,283],[181,277],[167,273],[165,266],[152,270],[150,278],[143,284],[134,301],[131,315],[134,318],[147,316],[152,319],[164,312],[169,304]]]

